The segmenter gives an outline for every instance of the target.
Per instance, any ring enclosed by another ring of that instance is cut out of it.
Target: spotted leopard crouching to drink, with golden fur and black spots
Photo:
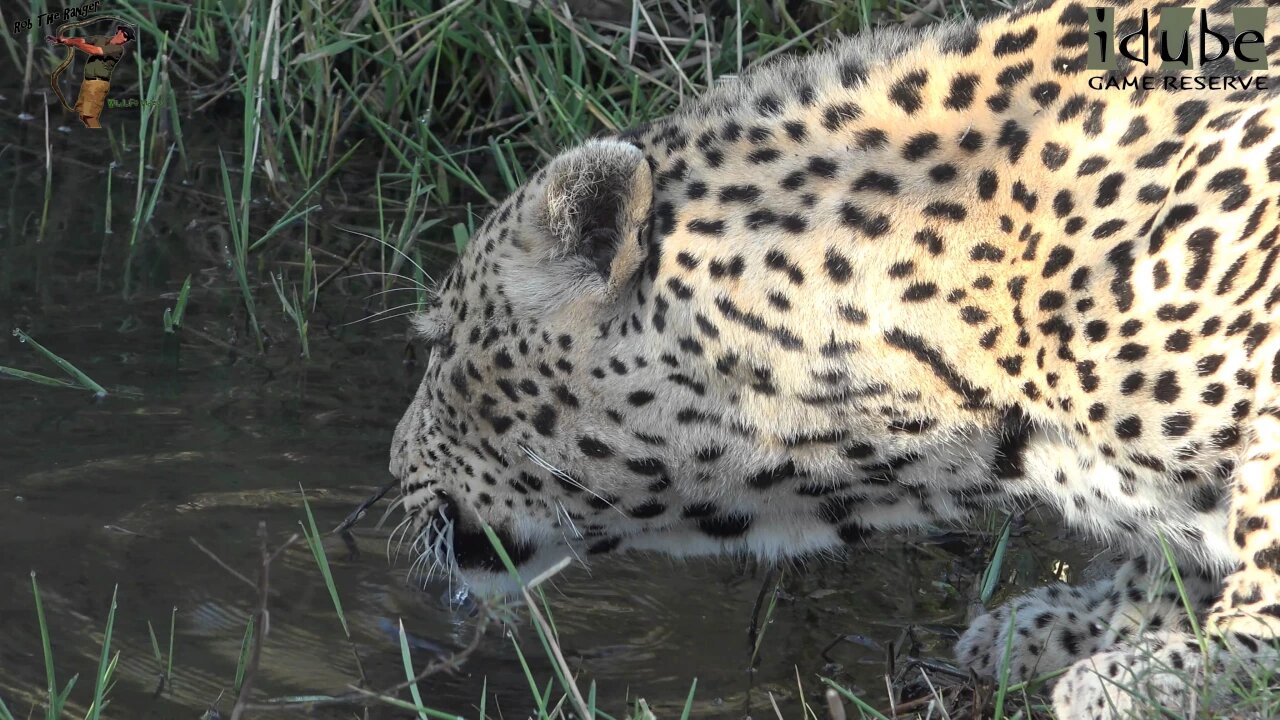
[[[1056,674],[1064,719],[1274,669],[1280,22],[1197,8],[1263,68],[1096,68],[1160,8],[1094,1],[876,28],[550,156],[413,319],[417,566],[512,593],[1039,509],[1123,561],[979,615],[963,667]]]

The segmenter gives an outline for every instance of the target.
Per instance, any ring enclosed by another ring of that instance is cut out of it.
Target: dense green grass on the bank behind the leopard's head
[[[114,251],[124,256],[127,299],[145,297],[148,282],[178,284],[188,274],[229,269],[230,287],[205,282],[192,292],[219,301],[238,296],[247,332],[232,343],[252,338],[265,352],[291,342],[308,357],[317,328],[310,316],[319,305],[344,306],[344,296],[370,287],[412,288],[421,278],[397,277],[406,259],[419,266],[447,263],[466,247],[476,218],[559,149],[669,114],[719,79],[820,47],[837,33],[977,14],[995,3],[739,3],[728,14],[710,15],[644,0],[612,17],[580,5],[134,0],[113,6],[140,29],[136,61],[120,70],[120,92],[141,105],[131,126],[114,126],[128,133],[109,136],[115,163],[106,173],[109,201],[95,220],[102,232],[92,238],[99,279]],[[45,8],[44,0],[19,0],[13,15]],[[47,69],[37,32],[4,33],[0,53],[22,69],[27,86]],[[72,79],[67,83],[72,91]],[[211,141],[197,122],[206,118],[223,133]],[[32,152],[46,165],[45,211],[33,213],[42,218],[40,237],[54,227],[49,208],[59,168],[50,149],[59,122],[74,120],[51,117],[45,152]],[[207,236],[225,234],[225,268],[221,261],[156,266],[174,245],[166,229],[172,208],[180,208],[178,241],[204,251],[196,258],[207,256]],[[114,218],[129,219],[128,242],[119,247],[108,242]],[[330,229],[338,227],[352,232]],[[388,245],[366,242],[370,236]],[[294,279],[294,296],[288,278],[300,265],[326,279]],[[364,270],[378,279],[352,282]],[[311,292],[302,287],[307,282]],[[264,302],[276,301],[287,334],[262,311]],[[180,319],[164,320],[163,329],[173,332]],[[183,340],[212,342],[196,332]]]

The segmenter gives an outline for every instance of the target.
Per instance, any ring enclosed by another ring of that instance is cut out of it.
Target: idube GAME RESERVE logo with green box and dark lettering
[[[1193,20],[1198,19],[1194,32]],[[1226,28],[1212,27],[1208,12],[1196,8],[1160,8],[1156,12],[1156,32],[1151,32],[1151,12],[1142,10],[1142,20],[1137,27],[1124,27],[1128,31],[1116,36],[1115,8],[1089,8],[1089,46],[1085,68],[1091,70],[1115,70],[1119,58],[1126,58],[1142,65],[1152,65],[1158,60],[1161,77],[1116,78],[1112,76],[1093,78],[1089,85],[1098,90],[1105,87],[1138,87],[1155,90],[1266,90],[1266,77],[1247,77],[1249,70],[1267,69],[1267,8],[1233,8],[1230,32]],[[1130,22],[1132,24],[1132,22]],[[1152,42],[1155,37],[1155,44]],[[1203,69],[1208,63],[1231,56],[1234,68],[1240,76],[1180,74],[1192,68]]]

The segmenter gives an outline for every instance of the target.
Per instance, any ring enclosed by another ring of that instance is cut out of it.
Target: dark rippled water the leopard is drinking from
[[[256,591],[197,543],[252,580],[259,524],[273,548],[298,532],[300,488],[329,529],[389,479],[387,447],[417,380],[404,361],[404,320],[346,327],[378,306],[342,288],[326,292],[312,322],[312,360],[305,363],[292,356],[292,329],[268,288],[260,316],[282,341],[257,356],[221,266],[225,233],[216,229],[225,215],[215,174],[198,169],[207,170],[200,158],[215,147],[191,140],[197,191],[161,201],[157,227],[132,260],[138,287],[120,301],[113,278],[123,264],[132,181],[116,176],[115,234],[104,236],[104,214],[86,202],[60,208],[37,240],[44,128],[10,131],[6,141],[26,150],[12,151],[10,164],[0,167],[15,188],[0,218],[0,323],[29,331],[113,392],[95,400],[0,378],[0,697],[23,717],[44,692],[36,573],[59,680],[81,675],[74,707],[83,711],[91,697],[116,589],[111,644],[120,665],[108,715],[195,719],[214,707],[225,717]],[[69,133],[54,136],[68,147],[74,142]],[[60,197],[99,187],[101,173],[86,168],[105,168],[110,152],[74,150],[56,165]],[[187,324],[201,334],[179,340],[165,336],[161,316],[187,273],[196,286]],[[244,354],[224,342],[238,342]],[[0,333],[0,364],[59,374],[8,332]],[[471,639],[475,620],[443,601],[445,584],[422,588],[407,578],[411,559],[388,559],[389,528],[399,515],[376,528],[383,509],[357,527],[358,553],[339,538],[325,541],[353,648],[306,546],[294,543],[273,565],[256,700],[346,692],[360,676],[357,655],[367,687],[394,685],[404,676],[399,623],[417,667]],[[948,656],[991,542],[989,534],[936,539],[886,537],[845,561],[788,570],[754,669],[748,628],[762,588],[773,585],[751,564],[611,559],[590,571],[567,570],[548,597],[570,665],[584,688],[596,682],[599,706],[613,714],[643,697],[659,716],[672,716],[695,678],[696,716],[773,716],[772,694],[787,717],[799,717],[801,698],[820,701],[819,675],[886,706],[886,646],[910,628],[915,651]],[[1059,546],[1039,543],[1015,538],[1004,574],[1016,585],[1061,574]],[[157,692],[161,664],[147,623],[165,648],[174,607],[173,683]],[[521,623],[516,634],[534,678],[545,683],[553,673],[532,629]],[[824,656],[841,635],[851,642]],[[485,684],[492,711],[534,711],[511,639],[498,628],[461,671],[433,676],[422,694],[431,707],[472,716]],[[404,714],[375,706],[370,716]]]

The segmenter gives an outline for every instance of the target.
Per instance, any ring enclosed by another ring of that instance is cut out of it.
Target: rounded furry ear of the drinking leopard
[[[547,168],[552,259],[570,261],[614,292],[640,269],[653,206],[649,163],[634,145],[595,140]]]

